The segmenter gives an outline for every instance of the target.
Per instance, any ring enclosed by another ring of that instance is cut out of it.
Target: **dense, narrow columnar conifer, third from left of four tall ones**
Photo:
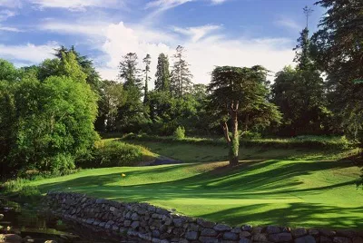
[[[169,60],[168,56],[161,53],[158,57],[158,64],[156,66],[155,73],[155,91],[158,92],[170,92],[171,77],[169,72]]]

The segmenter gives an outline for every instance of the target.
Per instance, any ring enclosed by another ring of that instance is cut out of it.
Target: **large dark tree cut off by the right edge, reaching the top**
[[[315,61],[326,72],[329,102],[339,124],[363,147],[363,2],[321,0],[327,8],[312,37]],[[360,123],[361,124],[361,123]],[[360,135],[359,135],[360,134]]]

